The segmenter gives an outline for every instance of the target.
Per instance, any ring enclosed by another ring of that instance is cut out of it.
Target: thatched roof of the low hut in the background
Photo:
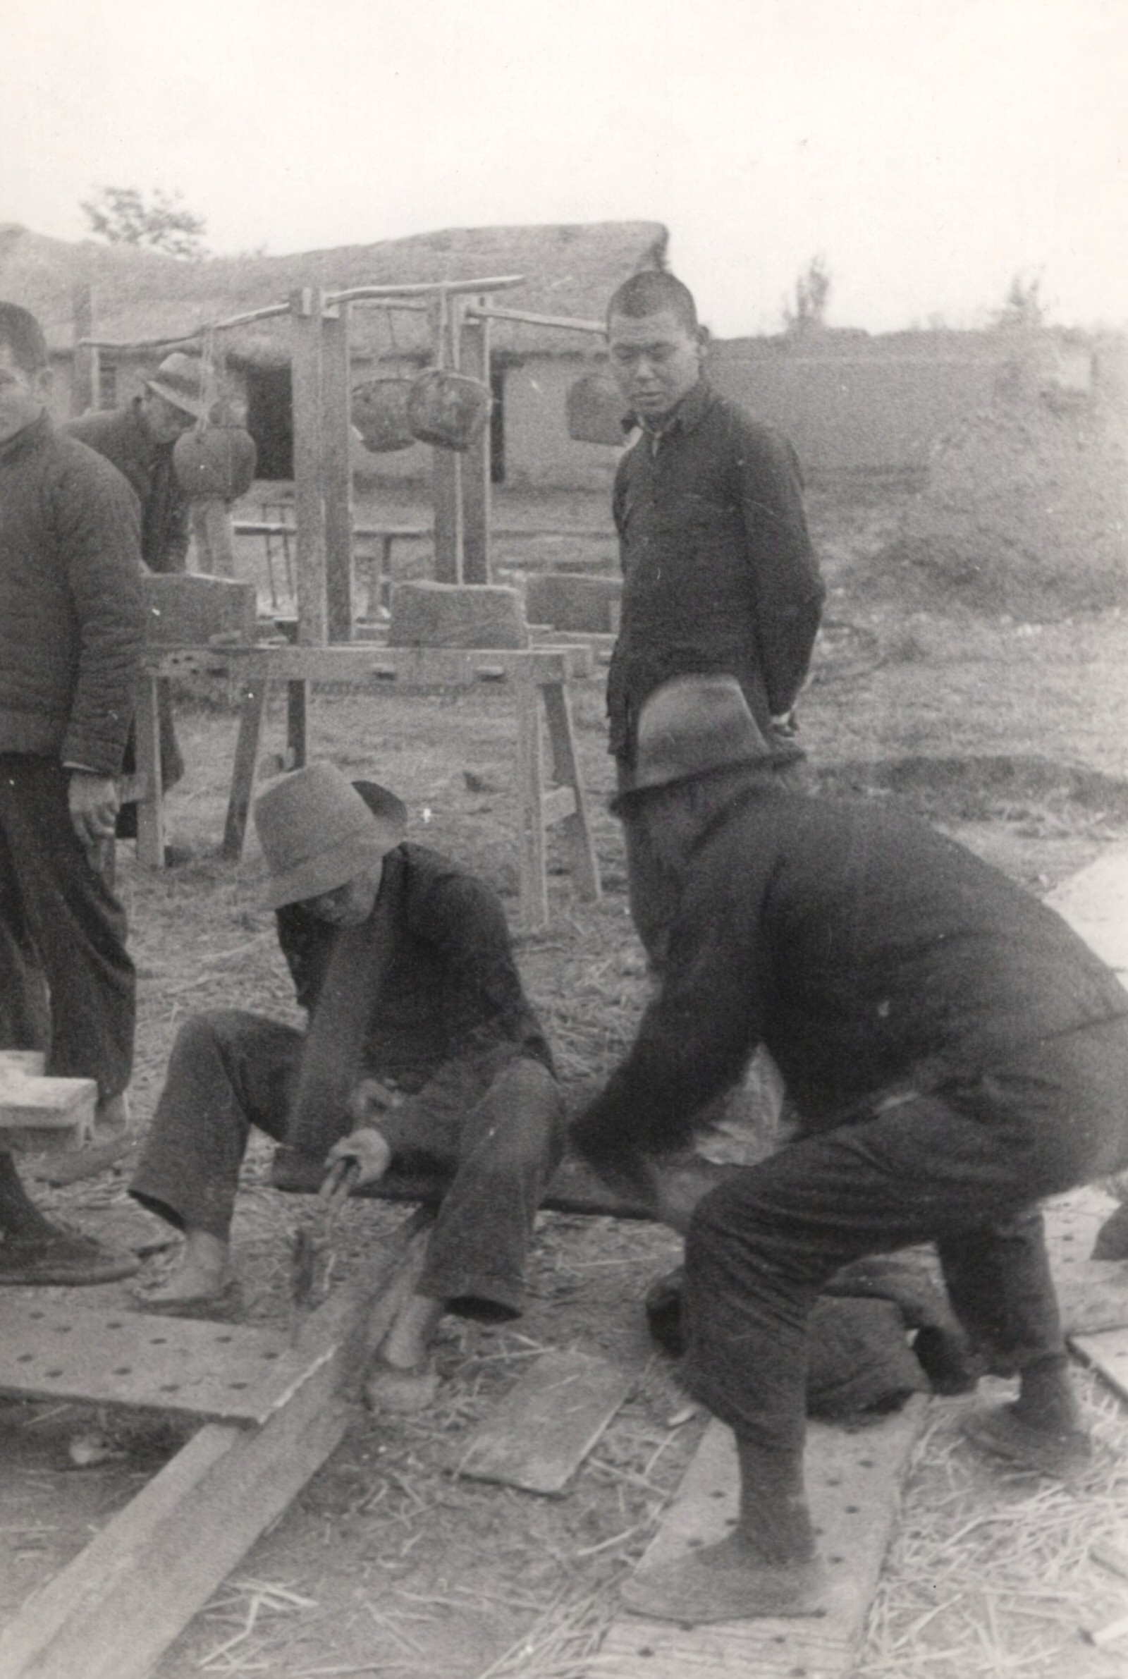
[[[525,284],[500,302],[537,314],[599,319],[614,285],[665,252],[658,222],[596,222],[561,227],[455,228],[378,245],[341,245],[289,257],[212,257],[193,262],[128,245],[67,243],[24,227],[0,225],[0,297],[22,302],[44,322],[52,351],[74,346],[74,292],[89,285],[96,334],[141,341],[190,334],[213,321],[285,302],[295,287],[344,290],[421,280],[467,280],[520,274]],[[358,359],[423,354],[420,314],[354,309]],[[232,361],[289,361],[285,317],[223,334]],[[574,349],[574,334],[497,324],[500,351]]]

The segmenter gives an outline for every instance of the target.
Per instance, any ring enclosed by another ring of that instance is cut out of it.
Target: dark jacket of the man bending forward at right
[[[750,787],[692,855],[661,992],[576,1142],[591,1159],[683,1143],[759,1043],[821,1130],[1125,1014],[1059,915],[925,823]]]

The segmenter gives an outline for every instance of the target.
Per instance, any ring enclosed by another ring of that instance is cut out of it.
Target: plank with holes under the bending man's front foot
[[[866,1614],[893,1535],[900,1488],[927,1412],[915,1395],[893,1417],[858,1429],[812,1422],[807,1491],[819,1550],[831,1573],[829,1610],[819,1619],[730,1620],[683,1627],[623,1615],[598,1657],[606,1679],[844,1679],[864,1635]],[[712,1422],[685,1472],[678,1498],[640,1563],[671,1561],[723,1538],[737,1516],[732,1434]]]

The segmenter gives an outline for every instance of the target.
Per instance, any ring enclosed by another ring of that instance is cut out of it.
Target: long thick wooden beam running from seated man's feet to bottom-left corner
[[[415,1214],[361,1283],[312,1315],[299,1352],[331,1348],[260,1429],[208,1424],[0,1632],[0,1679],[146,1679],[153,1664],[347,1427],[349,1394],[423,1264]]]

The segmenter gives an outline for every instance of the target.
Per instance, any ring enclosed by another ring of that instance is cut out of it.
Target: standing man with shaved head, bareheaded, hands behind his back
[[[624,791],[640,709],[671,677],[723,672],[762,730],[792,727],[824,588],[796,452],[710,388],[688,287],[663,270],[619,285],[608,351],[641,428],[614,480],[623,608],[608,719]],[[656,967],[671,888],[643,836],[626,843],[631,917]]]

